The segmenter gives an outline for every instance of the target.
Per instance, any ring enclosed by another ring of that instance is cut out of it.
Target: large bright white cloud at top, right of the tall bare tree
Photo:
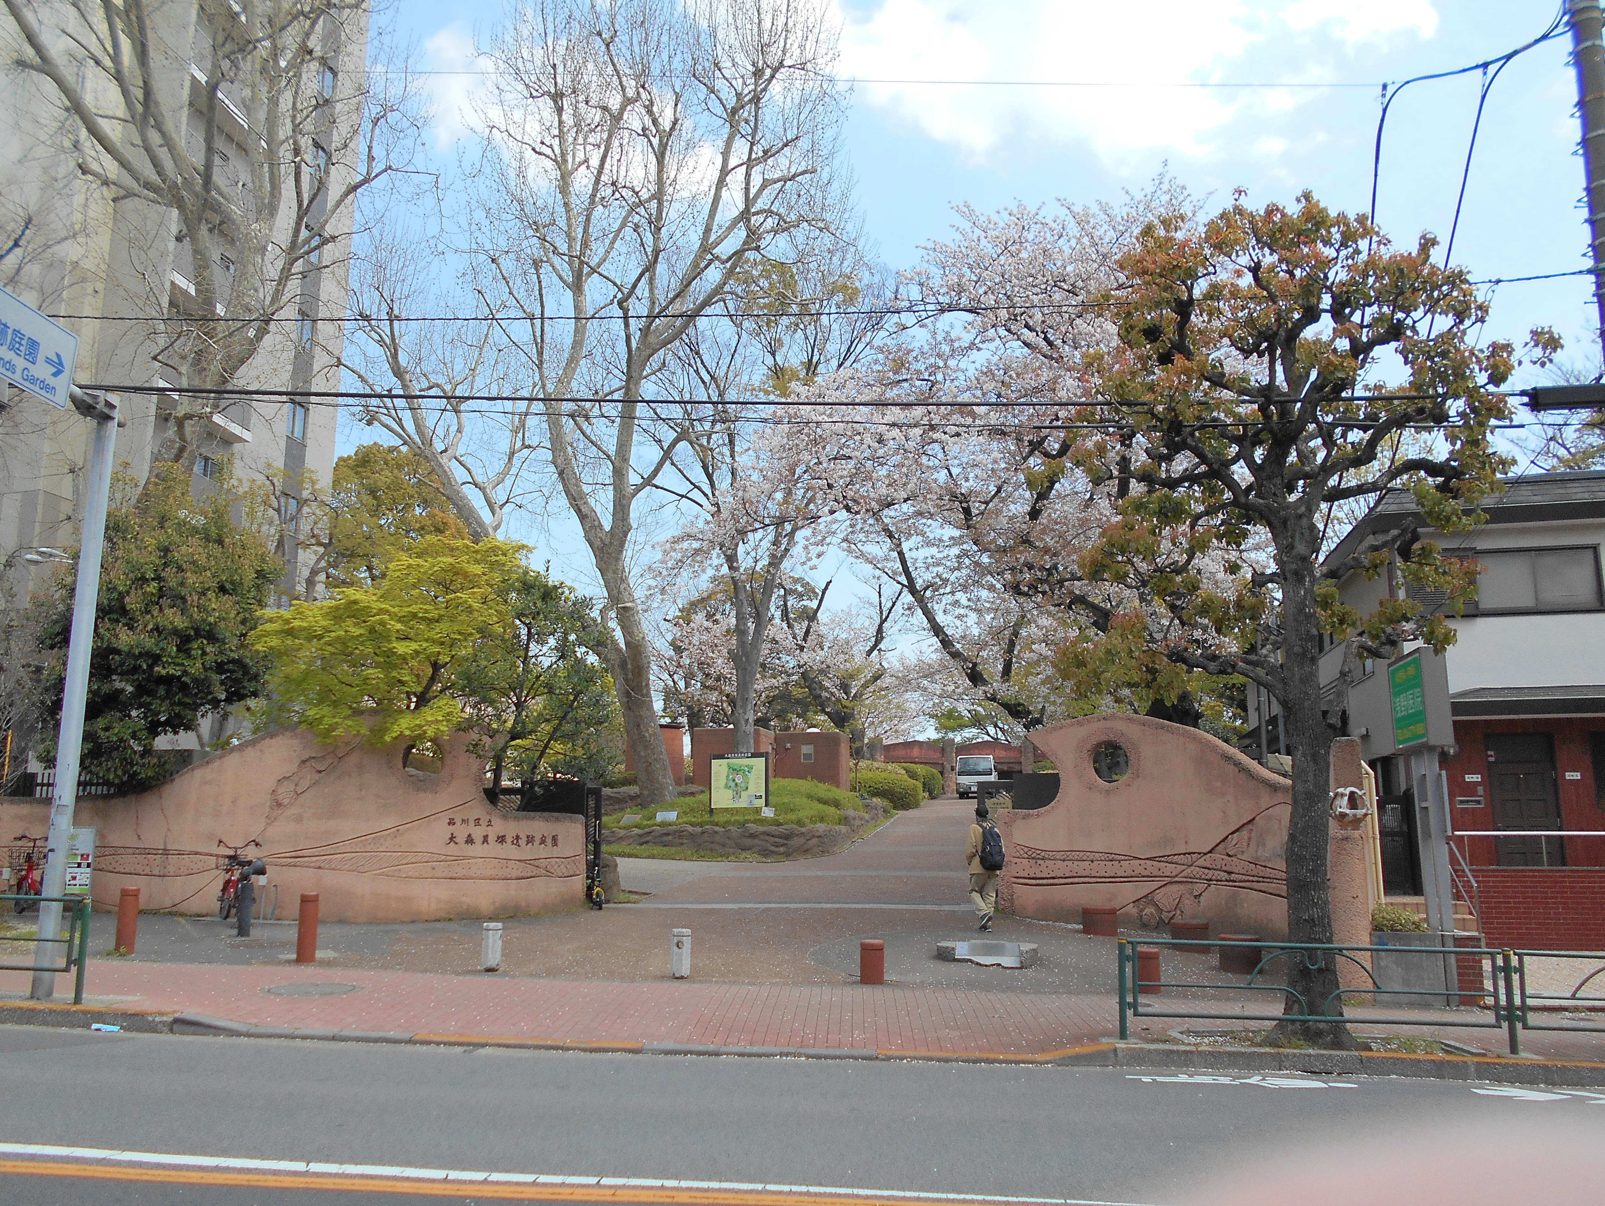
[[[1432,0],[884,0],[843,18],[844,75],[857,96],[928,136],[984,156],[1006,140],[1088,141],[1111,167],[1143,152],[1197,156],[1239,114],[1274,114],[1310,96],[1292,90],[1178,88],[1262,80],[1292,69],[1247,63],[1276,38],[1353,45],[1393,34],[1430,37]],[[1292,47],[1289,47],[1292,50]],[[1305,55],[1305,79],[1314,71]],[[1329,56],[1323,56],[1329,58]],[[918,80],[1059,80],[1080,87],[939,87]]]

